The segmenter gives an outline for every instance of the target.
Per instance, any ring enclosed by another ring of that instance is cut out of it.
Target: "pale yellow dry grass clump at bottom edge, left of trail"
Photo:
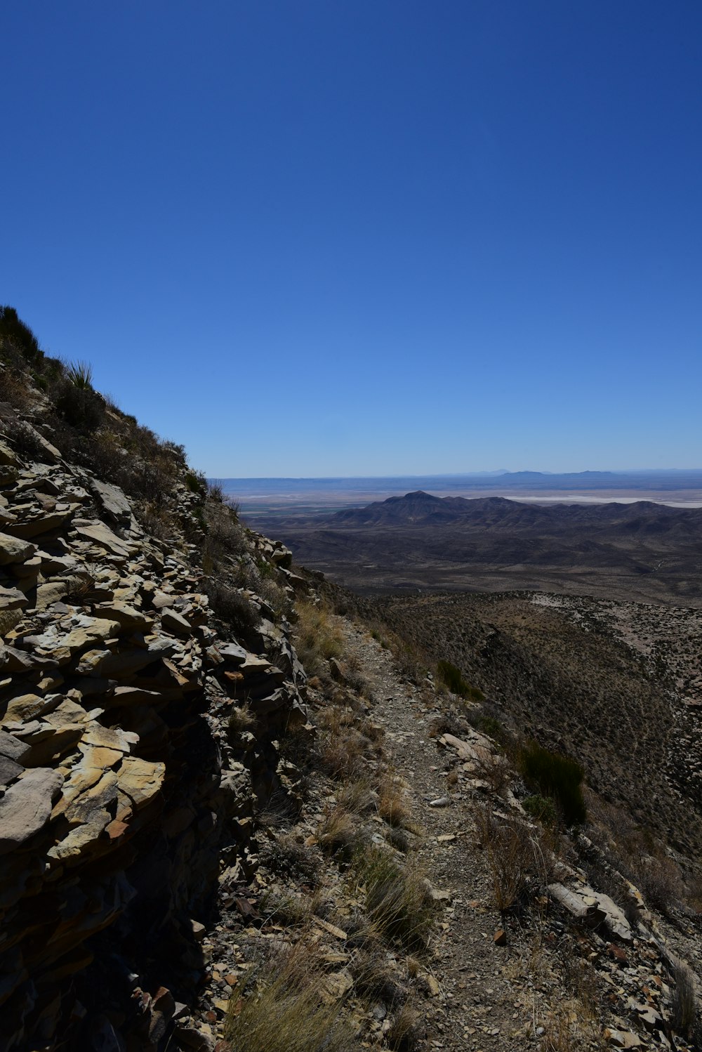
[[[224,1023],[231,1052],[352,1052],[357,1046],[337,1005],[322,999],[322,970],[303,940],[252,970],[234,991]]]

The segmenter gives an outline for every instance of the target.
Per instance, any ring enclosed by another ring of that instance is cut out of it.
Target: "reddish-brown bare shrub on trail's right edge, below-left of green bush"
[[[537,833],[523,822],[497,822],[488,806],[478,809],[476,822],[488,853],[495,906],[504,912],[522,903],[532,886],[545,881],[544,851]]]

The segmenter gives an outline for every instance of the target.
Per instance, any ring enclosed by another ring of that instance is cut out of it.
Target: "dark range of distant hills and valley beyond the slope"
[[[702,605],[702,509],[539,507],[421,491],[365,508],[277,519],[307,566],[366,591],[543,588]]]

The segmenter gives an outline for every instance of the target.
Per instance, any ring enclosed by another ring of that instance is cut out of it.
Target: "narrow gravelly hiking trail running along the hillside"
[[[456,770],[452,750],[430,736],[439,699],[398,673],[390,650],[348,621],[340,622],[347,658],[370,688],[372,719],[385,728],[388,763],[401,776],[415,821],[422,828],[417,854],[443,893],[430,947],[430,1048],[516,1049],[543,1033],[553,1017],[549,963],[538,933],[505,933],[492,905],[493,877],[478,846],[476,809],[484,807]],[[460,770],[460,764],[458,764]],[[453,785],[450,785],[453,782]],[[538,969],[538,974],[537,970]]]

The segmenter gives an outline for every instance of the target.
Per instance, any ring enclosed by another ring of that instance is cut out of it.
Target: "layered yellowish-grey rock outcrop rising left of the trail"
[[[264,601],[241,592],[246,645],[218,631],[197,547],[25,426],[36,459],[0,441],[0,1047],[162,1048],[218,878],[255,870],[254,793],[291,785],[304,673]],[[247,543],[291,593],[287,549]]]

